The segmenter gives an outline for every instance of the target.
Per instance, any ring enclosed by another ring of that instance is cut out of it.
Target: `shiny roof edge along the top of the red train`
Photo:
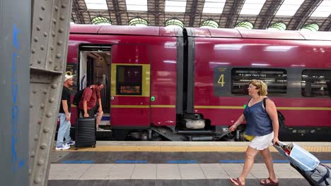
[[[189,37],[231,37],[250,39],[295,39],[331,41],[331,32],[308,32],[298,30],[245,30],[231,28],[185,27]],[[146,35],[160,37],[182,37],[177,27],[137,27],[129,25],[70,25],[71,34]]]

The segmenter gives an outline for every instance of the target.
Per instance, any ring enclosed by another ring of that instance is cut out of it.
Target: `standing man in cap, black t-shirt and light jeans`
[[[75,144],[75,142],[72,141],[70,137],[71,101],[69,87],[72,87],[72,85],[74,85],[74,80],[72,80],[72,78],[73,75],[64,75],[61,106],[59,109],[60,125],[59,131],[57,132],[57,147],[55,148],[57,150],[66,150],[69,149],[71,145]],[[64,138],[65,143],[63,142]]]

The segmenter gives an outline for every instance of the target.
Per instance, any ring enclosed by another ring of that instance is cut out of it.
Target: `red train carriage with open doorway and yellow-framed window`
[[[79,89],[97,80],[105,82],[103,110],[115,138],[146,139],[151,123],[175,126],[182,30],[71,25],[70,32],[67,61],[75,70],[68,71],[79,77]]]

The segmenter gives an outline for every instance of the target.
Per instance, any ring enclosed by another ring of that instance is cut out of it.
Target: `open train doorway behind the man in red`
[[[99,80],[105,87],[100,92],[103,118],[100,128],[110,129],[110,66],[111,46],[82,45],[79,47],[79,89],[95,85]]]

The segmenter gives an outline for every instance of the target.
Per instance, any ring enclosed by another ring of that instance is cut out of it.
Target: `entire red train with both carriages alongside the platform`
[[[78,77],[74,89],[105,82],[105,127],[116,140],[222,140],[254,78],[267,82],[286,116],[284,136],[322,132],[313,140],[325,140],[331,117],[325,38],[330,34],[71,25],[67,70]],[[242,131],[225,139],[241,140]]]

